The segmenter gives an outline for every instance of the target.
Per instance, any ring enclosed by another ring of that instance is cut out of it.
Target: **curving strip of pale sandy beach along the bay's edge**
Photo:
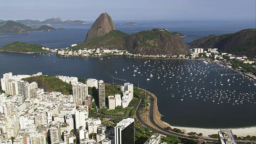
[[[234,135],[239,136],[256,136],[256,126],[252,126],[252,127],[246,127],[246,128],[189,128],[189,127],[182,127],[182,126],[171,126],[171,124],[168,124],[167,122],[164,122],[161,120],[161,117],[163,116],[162,114],[160,114],[160,112],[158,111],[158,105],[157,105],[157,97],[146,90],[146,92],[148,92],[149,94],[151,94],[154,98],[154,121],[161,126],[162,128],[166,128],[167,126],[170,126],[172,129],[173,128],[178,128],[182,131],[184,131],[185,133],[188,132],[196,132],[197,134],[202,133],[203,136],[208,136],[208,135],[212,135],[212,134],[218,134],[218,131],[220,130],[232,130],[232,133]]]

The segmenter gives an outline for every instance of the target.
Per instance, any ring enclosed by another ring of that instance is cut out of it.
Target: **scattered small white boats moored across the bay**
[[[255,84],[217,64],[190,60],[146,60],[143,64],[128,66],[127,70],[133,72],[133,77],[142,76],[146,77],[147,82],[161,84],[161,90],[166,89],[166,96],[173,100],[194,98],[233,105],[256,103]],[[220,72],[226,73],[225,76]]]

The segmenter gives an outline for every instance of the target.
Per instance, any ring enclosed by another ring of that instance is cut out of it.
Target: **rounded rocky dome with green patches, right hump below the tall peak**
[[[186,44],[168,31],[147,30],[126,38],[126,50],[133,54],[189,55]]]

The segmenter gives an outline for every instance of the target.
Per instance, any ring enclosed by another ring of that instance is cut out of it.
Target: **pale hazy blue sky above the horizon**
[[[255,20],[256,0],[0,0],[2,20]]]

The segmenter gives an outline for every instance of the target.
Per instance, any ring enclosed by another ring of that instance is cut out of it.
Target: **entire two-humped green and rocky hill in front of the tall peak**
[[[108,48],[128,50],[133,54],[185,54],[190,52],[184,42],[166,29],[154,28],[135,34],[126,34],[120,30],[112,30],[104,36],[83,44],[70,47],[72,50],[84,48]]]

